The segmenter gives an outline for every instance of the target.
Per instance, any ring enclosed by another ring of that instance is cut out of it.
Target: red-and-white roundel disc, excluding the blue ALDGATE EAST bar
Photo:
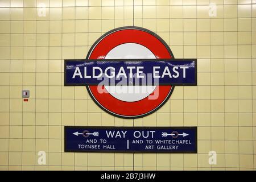
[[[87,59],[171,59],[171,49],[153,32],[142,28],[119,28],[102,36],[88,52]],[[151,93],[104,93],[97,86],[87,86],[93,100],[106,111],[120,117],[141,117],[160,108],[170,97],[174,86],[156,86]],[[150,87],[150,86],[148,86]],[[108,89],[108,88],[105,88]],[[158,92],[159,97],[149,99]],[[125,94],[121,96],[122,94]],[[116,96],[117,95],[117,96]],[[120,96],[118,96],[120,95]]]

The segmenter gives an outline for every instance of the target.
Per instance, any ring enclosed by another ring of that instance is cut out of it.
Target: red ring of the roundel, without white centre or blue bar
[[[104,59],[114,47],[125,43],[141,44],[150,49],[156,59],[174,58],[171,49],[154,32],[140,27],[122,27],[102,35],[90,48],[86,59]],[[138,118],[159,109],[171,96],[174,86],[156,86],[150,95],[158,92],[158,98],[150,100],[147,96],[134,102],[118,100],[109,94],[105,88],[104,93],[98,93],[97,86],[86,86],[86,88],[94,102],[106,112],[122,118]]]

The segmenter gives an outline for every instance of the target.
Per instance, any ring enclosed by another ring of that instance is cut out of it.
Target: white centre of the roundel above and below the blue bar
[[[135,43],[125,43],[113,48],[105,59],[156,59],[150,49]],[[126,102],[135,102],[149,96],[156,86],[105,86],[115,98]]]

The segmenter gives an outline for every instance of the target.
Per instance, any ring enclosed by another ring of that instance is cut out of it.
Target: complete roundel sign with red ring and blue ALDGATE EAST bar
[[[110,114],[138,118],[163,106],[175,85],[196,85],[196,59],[174,59],[154,32],[121,27],[102,35],[85,60],[65,60],[64,82],[85,85]]]

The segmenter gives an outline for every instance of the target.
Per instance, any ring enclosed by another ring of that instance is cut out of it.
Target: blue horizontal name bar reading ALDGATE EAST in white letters
[[[196,59],[65,60],[65,86],[197,85]]]

